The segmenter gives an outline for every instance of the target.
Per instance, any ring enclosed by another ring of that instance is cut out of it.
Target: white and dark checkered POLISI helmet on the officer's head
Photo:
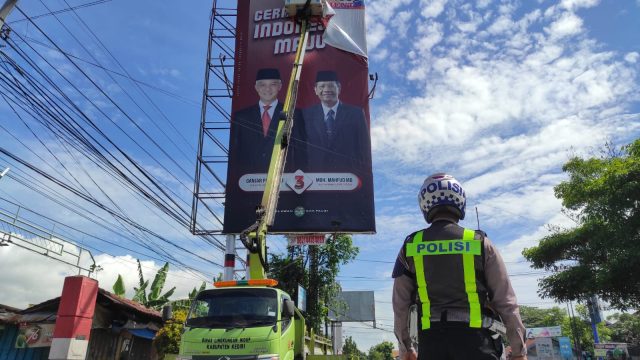
[[[424,180],[418,193],[418,204],[428,223],[431,223],[437,212],[433,210],[440,206],[446,206],[462,220],[467,197],[458,180],[451,175],[437,173]]]

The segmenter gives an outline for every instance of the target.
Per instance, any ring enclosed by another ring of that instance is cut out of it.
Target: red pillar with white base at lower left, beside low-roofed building
[[[50,360],[86,358],[97,296],[96,280],[86,276],[69,276],[64,279],[49,351]]]

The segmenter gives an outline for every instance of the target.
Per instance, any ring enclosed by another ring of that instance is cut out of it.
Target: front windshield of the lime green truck
[[[278,301],[274,289],[213,289],[198,294],[191,304],[187,326],[206,328],[273,325]]]

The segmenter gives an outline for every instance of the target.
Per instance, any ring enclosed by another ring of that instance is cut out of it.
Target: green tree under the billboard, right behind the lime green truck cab
[[[342,290],[336,277],[340,266],[356,258],[359,249],[353,245],[351,235],[329,236],[325,245],[290,248],[288,256],[270,255],[269,276],[278,280],[278,287],[294,296],[298,284],[307,289],[307,326],[321,333],[329,309],[339,309],[336,300]],[[302,258],[306,255],[309,268]]]

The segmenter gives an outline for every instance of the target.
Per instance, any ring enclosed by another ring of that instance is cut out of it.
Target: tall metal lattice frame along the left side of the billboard
[[[237,0],[213,0],[191,206],[194,235],[222,233],[237,13]]]

